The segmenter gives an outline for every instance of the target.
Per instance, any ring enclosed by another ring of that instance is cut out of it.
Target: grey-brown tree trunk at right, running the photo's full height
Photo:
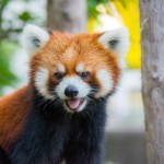
[[[149,164],[164,164],[164,0],[140,0],[142,96]]]

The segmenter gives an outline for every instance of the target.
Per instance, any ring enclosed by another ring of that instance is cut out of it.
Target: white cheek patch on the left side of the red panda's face
[[[48,70],[46,68],[40,67],[35,74],[35,86],[45,98],[54,99],[55,97],[48,93],[47,81]]]

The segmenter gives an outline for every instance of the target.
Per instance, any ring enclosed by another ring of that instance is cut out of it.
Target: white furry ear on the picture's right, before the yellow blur
[[[124,58],[130,46],[129,32],[125,26],[110,30],[104,32],[99,36],[98,42],[103,44],[105,48],[113,50],[119,58]]]

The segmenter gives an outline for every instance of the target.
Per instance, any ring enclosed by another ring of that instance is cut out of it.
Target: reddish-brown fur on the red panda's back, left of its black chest
[[[31,110],[30,86],[0,98],[0,145],[9,152]]]

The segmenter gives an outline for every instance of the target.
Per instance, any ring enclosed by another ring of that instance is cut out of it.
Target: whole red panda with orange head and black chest
[[[126,27],[94,34],[26,25],[30,82],[0,98],[0,147],[11,164],[102,164],[106,101],[129,48]]]

